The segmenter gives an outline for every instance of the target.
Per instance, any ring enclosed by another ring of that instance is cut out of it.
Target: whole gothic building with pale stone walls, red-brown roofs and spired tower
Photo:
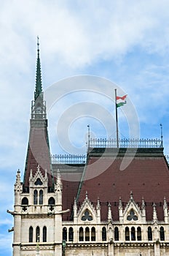
[[[82,162],[51,157],[38,45],[24,178],[18,170],[8,210],[13,255],[169,255],[168,162],[159,140],[137,142],[125,170],[133,144],[122,140],[95,140]]]

